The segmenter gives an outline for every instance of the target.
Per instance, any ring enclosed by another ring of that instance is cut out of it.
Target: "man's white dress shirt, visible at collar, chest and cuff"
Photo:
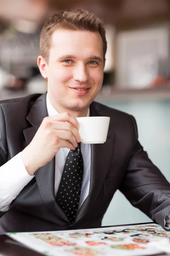
[[[58,112],[51,105],[46,97],[48,116],[56,115]],[[89,116],[89,109],[88,115]],[[55,188],[54,193],[57,194],[65,160],[70,149],[60,148],[55,156]],[[88,196],[90,188],[91,174],[91,145],[81,143],[81,151],[84,162],[84,173],[82,180],[82,190],[80,195],[79,207]],[[21,154],[17,154],[7,163],[0,167],[0,211],[6,212],[11,202],[17,197],[21,190],[32,180],[34,176],[30,176],[23,164]]]

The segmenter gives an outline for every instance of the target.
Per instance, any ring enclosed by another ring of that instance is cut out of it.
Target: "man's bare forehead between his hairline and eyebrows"
[[[102,37],[99,32],[56,29],[51,37],[50,55],[54,52],[55,55],[99,55],[102,58]]]

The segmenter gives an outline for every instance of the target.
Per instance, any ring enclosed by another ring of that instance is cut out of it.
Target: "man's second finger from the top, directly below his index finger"
[[[81,141],[81,137],[79,135],[79,131],[69,122],[54,122],[51,128],[56,130],[63,130],[63,131],[71,131],[73,136],[76,138],[77,142]]]

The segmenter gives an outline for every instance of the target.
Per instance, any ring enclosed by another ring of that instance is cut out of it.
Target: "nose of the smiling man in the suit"
[[[74,68],[73,79],[75,81],[85,83],[86,81],[88,81],[88,77],[89,77],[88,70],[84,64],[79,64]]]

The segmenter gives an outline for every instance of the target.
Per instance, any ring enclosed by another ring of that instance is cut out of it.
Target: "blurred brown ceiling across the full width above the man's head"
[[[0,0],[0,17],[7,20],[39,22],[59,9],[88,9],[118,28],[170,20],[170,0]]]

